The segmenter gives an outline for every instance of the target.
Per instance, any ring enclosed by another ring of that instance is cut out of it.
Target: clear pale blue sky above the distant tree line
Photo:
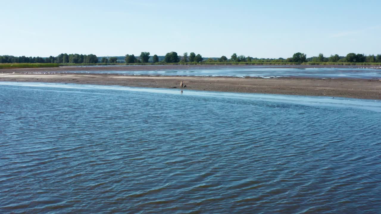
[[[0,55],[380,54],[380,16],[380,0],[0,0]]]

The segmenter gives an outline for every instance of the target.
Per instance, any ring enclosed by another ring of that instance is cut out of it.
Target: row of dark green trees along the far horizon
[[[233,53],[230,58],[226,56],[215,57],[215,58],[204,58],[201,54],[195,54],[194,52],[184,53],[182,56],[179,56],[176,52],[171,51],[166,53],[165,56],[157,56],[156,54],[150,56],[149,52],[141,52],[140,56],[134,56],[134,54],[126,54],[125,62],[127,64],[131,63],[187,63],[187,62],[294,62],[294,63],[303,63],[303,62],[369,62],[369,63],[381,63],[381,54],[375,55],[365,55],[365,54],[355,54],[349,53],[346,56],[339,56],[338,54],[331,55],[329,57],[324,56],[320,53],[318,56],[307,58],[304,53],[295,53],[292,57],[287,59],[278,58],[278,59],[264,59],[264,58],[253,58],[245,55],[237,55]],[[159,58],[161,60],[159,61]],[[120,58],[119,58],[120,59]],[[117,57],[103,57],[101,59],[102,63],[116,63],[118,60]],[[98,57],[94,54],[66,54],[62,53],[56,57],[26,57],[26,56],[0,56],[0,63],[74,63],[74,64],[95,64],[98,63]]]

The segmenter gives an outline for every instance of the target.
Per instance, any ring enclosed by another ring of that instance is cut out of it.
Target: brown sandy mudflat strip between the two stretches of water
[[[366,79],[123,76],[114,74],[0,73],[0,81],[121,85],[182,90],[351,97],[381,100],[381,81]]]

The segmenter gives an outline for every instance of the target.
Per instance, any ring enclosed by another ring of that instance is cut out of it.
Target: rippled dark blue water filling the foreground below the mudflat
[[[0,213],[381,212],[379,101],[0,90]]]

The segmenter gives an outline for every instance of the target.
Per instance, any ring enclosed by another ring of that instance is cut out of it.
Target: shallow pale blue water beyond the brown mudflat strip
[[[219,65],[197,68],[190,66],[184,69],[186,65],[179,65],[181,69],[160,69],[157,70],[90,70],[90,71],[68,71],[67,73],[114,73],[122,75],[165,75],[165,76],[226,76],[226,77],[310,77],[310,78],[364,78],[364,79],[381,79],[381,67],[374,68],[335,68],[335,67],[317,67],[303,68],[293,66],[234,66],[234,65]],[[184,67],[182,67],[184,66]],[[119,66],[122,67],[122,66]],[[138,66],[135,66],[138,67]]]

